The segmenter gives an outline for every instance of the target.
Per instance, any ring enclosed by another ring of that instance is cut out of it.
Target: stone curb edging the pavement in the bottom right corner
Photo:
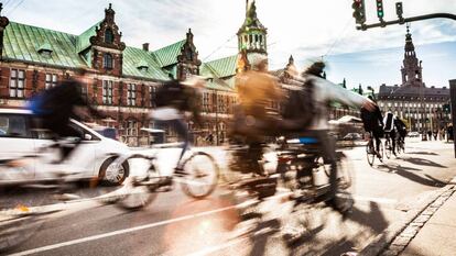
[[[445,203],[456,191],[456,177],[449,183],[433,194],[427,200],[410,210],[405,219],[388,226],[383,233],[377,235],[359,255],[362,256],[392,256],[399,255],[413,237],[420,232],[431,216]]]

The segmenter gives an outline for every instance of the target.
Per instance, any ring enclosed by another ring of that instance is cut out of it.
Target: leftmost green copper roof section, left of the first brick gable
[[[11,22],[4,30],[3,57],[73,68],[85,66],[75,51],[75,35]],[[51,56],[37,52],[45,44],[52,47]]]

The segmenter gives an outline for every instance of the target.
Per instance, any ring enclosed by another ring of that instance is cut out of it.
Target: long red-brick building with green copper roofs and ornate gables
[[[155,51],[149,49],[148,43],[142,47],[126,45],[111,4],[102,21],[79,35],[0,16],[0,108],[23,108],[33,94],[77,77],[77,70],[84,68],[82,94],[106,116],[86,121],[116,127],[121,141],[138,146],[151,140],[141,127],[156,127],[149,113],[163,81],[199,75],[207,78],[200,100],[204,123],[197,126],[188,120],[188,126],[195,143],[204,143],[209,134],[220,143],[227,137],[237,102],[235,77],[250,68],[250,54],[268,55],[267,34],[254,0],[246,3],[246,19],[237,33],[238,53],[207,63],[198,58],[192,30],[182,41]],[[272,74],[286,84],[290,78],[283,70],[290,68],[295,68],[292,57],[284,69]],[[348,113],[350,110],[336,107],[332,118]],[[172,130],[160,129],[166,130],[170,141],[176,140]]]

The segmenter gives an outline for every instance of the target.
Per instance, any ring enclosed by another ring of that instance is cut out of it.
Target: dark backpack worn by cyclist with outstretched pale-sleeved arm
[[[284,130],[302,132],[308,127],[315,116],[314,85],[307,79],[304,86],[289,90],[287,99],[282,105]]]

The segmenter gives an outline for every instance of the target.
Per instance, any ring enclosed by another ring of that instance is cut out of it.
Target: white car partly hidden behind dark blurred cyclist
[[[0,109],[0,159],[23,158],[39,155],[45,148],[48,157],[56,158],[50,145],[54,144],[48,131],[35,129],[32,113],[26,110]],[[52,164],[46,154],[24,158],[26,167],[4,168],[0,171],[0,185],[42,182],[56,179],[56,172],[69,172],[70,180],[100,178],[110,185],[122,183],[129,176],[129,164],[119,170],[106,171],[115,155],[130,149],[122,143],[104,137],[88,126],[72,120],[74,136],[83,142],[62,164]],[[44,156],[43,156],[44,155]],[[58,158],[57,158],[58,159]],[[115,169],[115,168],[110,168]],[[110,170],[109,169],[109,170]],[[115,172],[115,174],[113,174]]]

